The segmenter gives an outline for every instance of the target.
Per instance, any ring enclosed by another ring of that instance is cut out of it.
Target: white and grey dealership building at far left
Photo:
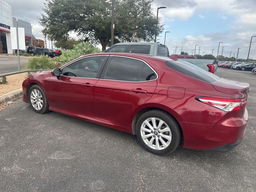
[[[22,20],[16,21],[16,18],[12,17],[12,8],[5,1],[0,0],[0,53],[12,54],[12,44],[11,44],[11,27],[24,28],[25,30],[25,44],[33,45],[33,39],[35,37],[32,35],[32,26],[30,23]]]

